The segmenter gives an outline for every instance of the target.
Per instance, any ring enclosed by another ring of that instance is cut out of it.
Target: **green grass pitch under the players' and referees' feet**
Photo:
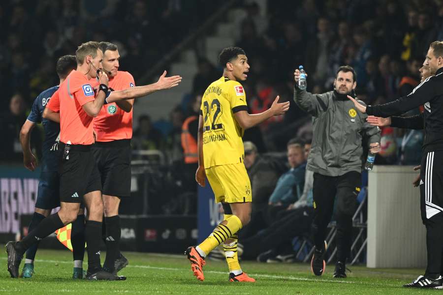
[[[50,294],[193,294],[193,295],[248,295],[248,294],[425,294],[439,290],[405,289],[423,269],[370,269],[351,266],[347,279],[333,279],[334,266],[316,277],[308,264],[264,264],[242,262],[241,265],[256,283],[229,283],[225,262],[208,261],[205,281],[192,275],[190,264],[183,255],[124,252],[129,266],[119,274],[126,281],[97,282],[70,279],[72,255],[68,250],[38,250],[35,274],[31,279],[12,279],[6,267],[6,253],[0,245],[0,295]],[[104,260],[104,253],[101,255]],[[23,266],[22,262],[21,267]],[[20,267],[20,271],[21,271]],[[86,262],[84,267],[87,267]]]

